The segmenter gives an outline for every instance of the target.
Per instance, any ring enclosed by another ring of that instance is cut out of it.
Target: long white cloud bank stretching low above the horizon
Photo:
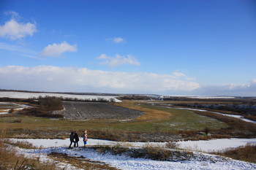
[[[0,67],[0,88],[105,93],[169,93],[200,88],[173,74],[104,72],[56,66]]]

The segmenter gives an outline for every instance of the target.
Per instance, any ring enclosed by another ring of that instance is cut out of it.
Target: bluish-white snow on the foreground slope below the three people
[[[37,140],[37,139],[34,139]],[[47,142],[53,142],[56,139]],[[60,139],[58,140],[60,141]],[[63,140],[68,142],[67,140]],[[41,141],[43,142],[43,141]],[[91,140],[92,142],[92,140]],[[97,141],[95,141],[97,142]],[[100,140],[98,142],[101,142]],[[105,141],[109,144],[112,144],[110,141]],[[33,143],[34,144],[34,143]],[[45,142],[41,143],[45,145]],[[108,163],[110,166],[116,167],[117,169],[216,169],[216,170],[225,170],[225,169],[256,169],[255,163],[247,163],[244,161],[236,161],[231,158],[221,157],[219,155],[209,155],[206,153],[194,152],[196,158],[192,160],[185,161],[154,161],[145,158],[131,158],[127,155],[111,155],[109,153],[101,154],[96,152],[91,148],[77,147],[72,149],[67,149],[67,147],[48,147],[42,150],[18,150],[20,154],[26,156],[34,157],[37,155],[40,159],[47,160],[44,155],[50,152],[60,152],[66,153],[69,156],[80,157],[83,156],[91,161],[101,161]],[[70,168],[71,167],[71,168]],[[73,167],[75,169],[75,167]],[[69,166],[68,169],[72,169],[72,166]]]

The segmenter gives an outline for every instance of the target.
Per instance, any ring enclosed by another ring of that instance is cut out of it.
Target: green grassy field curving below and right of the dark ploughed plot
[[[226,128],[225,123],[219,122],[210,117],[197,115],[184,109],[170,109],[165,107],[154,107],[148,104],[144,109],[157,112],[170,112],[170,116],[161,119],[150,120],[57,120],[43,117],[27,116],[1,116],[1,127],[5,126],[10,130],[36,130],[36,131],[80,131],[83,129],[94,131],[125,131],[125,132],[168,132],[168,131],[197,131],[203,128]]]

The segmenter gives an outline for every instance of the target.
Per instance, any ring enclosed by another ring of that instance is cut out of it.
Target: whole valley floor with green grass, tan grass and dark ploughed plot
[[[18,138],[66,138],[69,131],[82,133],[84,129],[90,131],[91,138],[116,141],[171,141],[256,136],[255,125],[244,123],[242,120],[219,119],[211,112],[203,115],[193,110],[164,107],[178,102],[181,104],[191,102],[191,99],[188,100],[124,100],[116,103],[62,101],[61,108],[64,109],[53,113],[62,114],[64,118],[33,117],[15,112],[1,115],[0,127],[10,128],[9,135]],[[194,103],[197,102],[197,99],[193,100]],[[233,101],[229,100],[237,101],[234,99],[200,99],[199,101],[232,104]],[[241,100],[237,102],[241,103]],[[236,128],[237,126],[243,128]],[[211,135],[206,135],[208,133]]]

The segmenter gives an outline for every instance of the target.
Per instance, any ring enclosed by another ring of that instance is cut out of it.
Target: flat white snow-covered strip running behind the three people
[[[69,139],[12,139],[14,141],[27,141],[33,144],[36,147],[68,147],[70,142]],[[212,140],[203,140],[203,141],[182,141],[178,142],[180,144],[180,148],[188,149],[188,150],[200,150],[203,152],[208,151],[222,151],[230,147],[239,147],[244,146],[247,143],[256,144],[256,138],[254,139],[212,139]],[[124,144],[127,146],[133,147],[144,147],[147,144],[151,146],[162,146],[164,147],[166,142],[115,142],[109,140],[101,140],[101,139],[88,139],[87,144],[89,145],[116,145],[116,144]],[[83,139],[80,138],[79,145],[83,146]]]

